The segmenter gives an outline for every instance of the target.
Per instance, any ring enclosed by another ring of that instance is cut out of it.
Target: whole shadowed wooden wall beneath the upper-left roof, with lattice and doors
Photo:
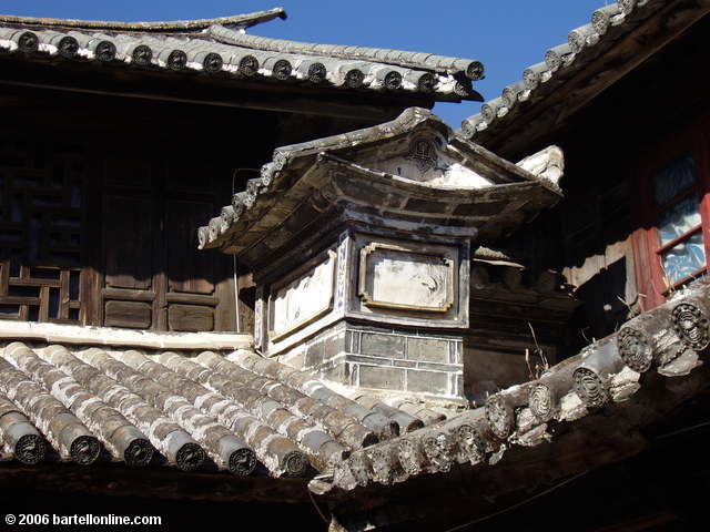
[[[239,168],[369,125],[2,83],[0,112],[0,319],[174,331],[236,330],[235,277],[251,331],[247,273],[195,237]]]

